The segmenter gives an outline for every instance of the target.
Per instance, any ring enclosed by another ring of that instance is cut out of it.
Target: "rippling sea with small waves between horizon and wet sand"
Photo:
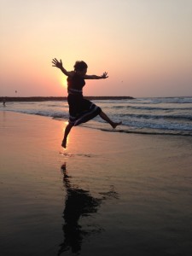
[[[192,136],[192,97],[137,98],[93,101],[114,121],[122,121],[116,130],[100,117],[84,124],[103,131]],[[7,102],[0,110],[68,119],[67,102]]]

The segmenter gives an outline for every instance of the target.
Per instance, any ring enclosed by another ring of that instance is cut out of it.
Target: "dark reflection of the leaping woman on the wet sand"
[[[93,232],[101,232],[101,228],[89,227],[89,230],[83,230],[79,225],[79,218],[89,216],[90,213],[97,212],[102,199],[94,198],[89,191],[75,188],[70,177],[67,175],[66,164],[61,166],[63,173],[63,184],[67,190],[62,230],[64,241],[60,245],[58,255],[71,249],[73,253],[79,254],[84,236],[89,236]]]

